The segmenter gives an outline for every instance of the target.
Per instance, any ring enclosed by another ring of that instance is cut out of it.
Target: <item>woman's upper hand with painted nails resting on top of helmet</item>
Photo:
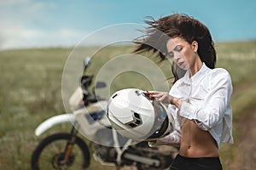
[[[149,94],[149,98],[154,99],[155,101],[175,105],[178,109],[182,103],[181,99],[175,98],[167,92],[159,91],[146,91],[146,94]]]

